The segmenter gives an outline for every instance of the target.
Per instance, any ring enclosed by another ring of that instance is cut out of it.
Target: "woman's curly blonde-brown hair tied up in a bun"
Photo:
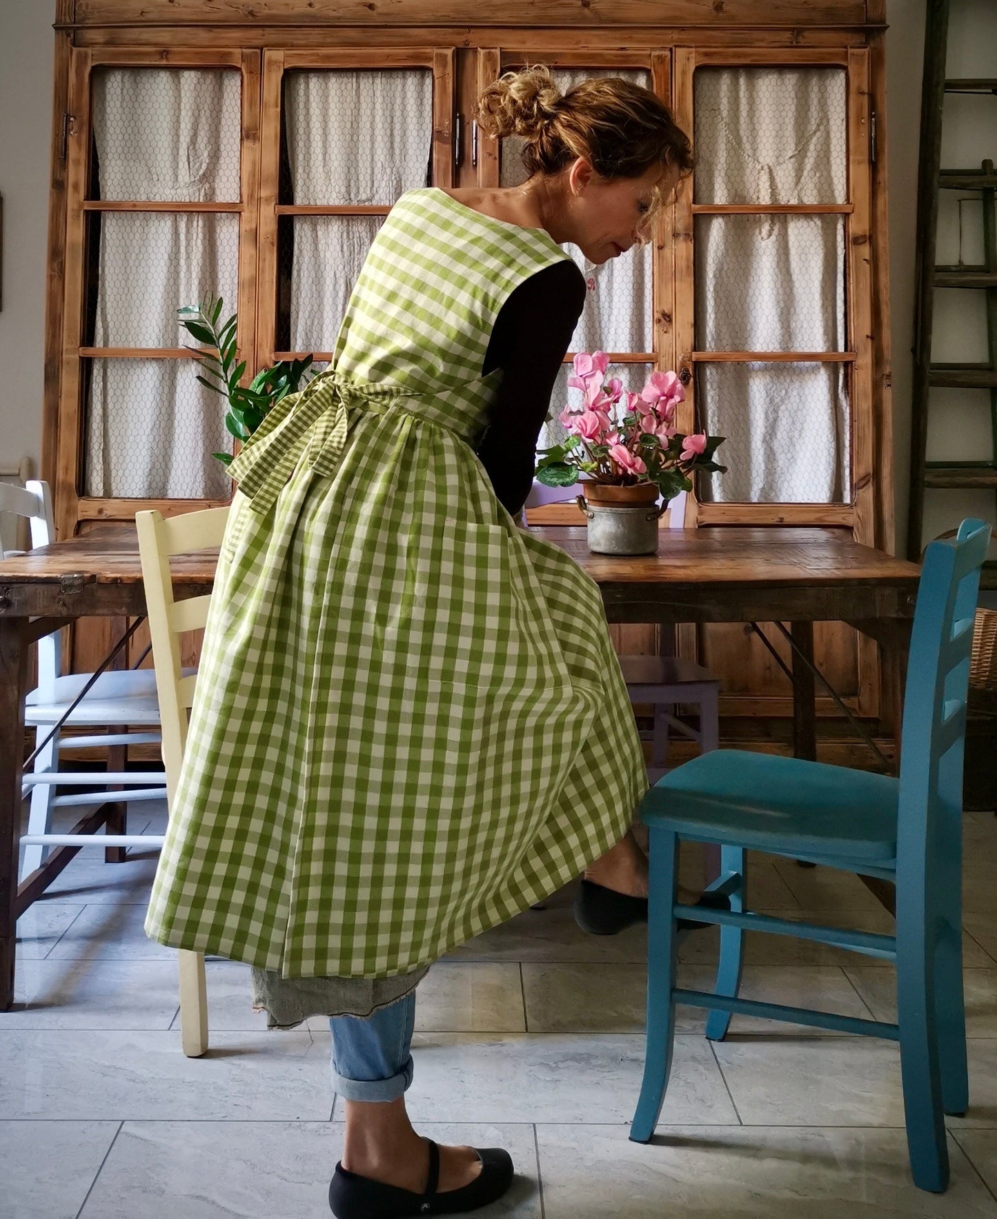
[[[524,141],[530,177],[583,157],[603,178],[639,178],[655,165],[682,177],[692,145],[657,94],[620,77],[593,77],[561,94],[542,63],[505,72],[478,98],[483,132]],[[657,200],[660,205],[661,200]]]

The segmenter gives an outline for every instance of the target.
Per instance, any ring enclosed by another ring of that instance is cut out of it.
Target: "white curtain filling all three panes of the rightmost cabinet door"
[[[696,200],[847,199],[847,94],[838,68],[696,74]],[[843,351],[842,216],[697,216],[700,351]],[[705,363],[702,425],[727,438],[718,502],[840,503],[849,495],[849,406],[840,363]]]

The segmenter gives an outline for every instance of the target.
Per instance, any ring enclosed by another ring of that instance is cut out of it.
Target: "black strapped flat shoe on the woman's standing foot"
[[[336,1219],[419,1219],[421,1215],[466,1214],[500,1198],[513,1184],[509,1152],[500,1147],[476,1147],[481,1171],[473,1181],[459,1190],[437,1193],[439,1148],[432,1139],[426,1142],[430,1145],[430,1176],[425,1193],[383,1185],[337,1164],[329,1182],[329,1208]]]

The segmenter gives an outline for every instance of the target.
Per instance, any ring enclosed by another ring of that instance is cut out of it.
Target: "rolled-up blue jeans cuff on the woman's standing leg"
[[[415,991],[372,1015],[329,1017],[332,1084],[345,1101],[397,1101],[412,1081]]]

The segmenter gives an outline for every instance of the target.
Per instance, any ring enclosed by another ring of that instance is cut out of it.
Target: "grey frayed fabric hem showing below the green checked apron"
[[[253,967],[253,1007],[266,1012],[267,1029],[293,1029],[312,1015],[372,1015],[404,998],[422,981],[422,965],[397,978],[281,978]]]

